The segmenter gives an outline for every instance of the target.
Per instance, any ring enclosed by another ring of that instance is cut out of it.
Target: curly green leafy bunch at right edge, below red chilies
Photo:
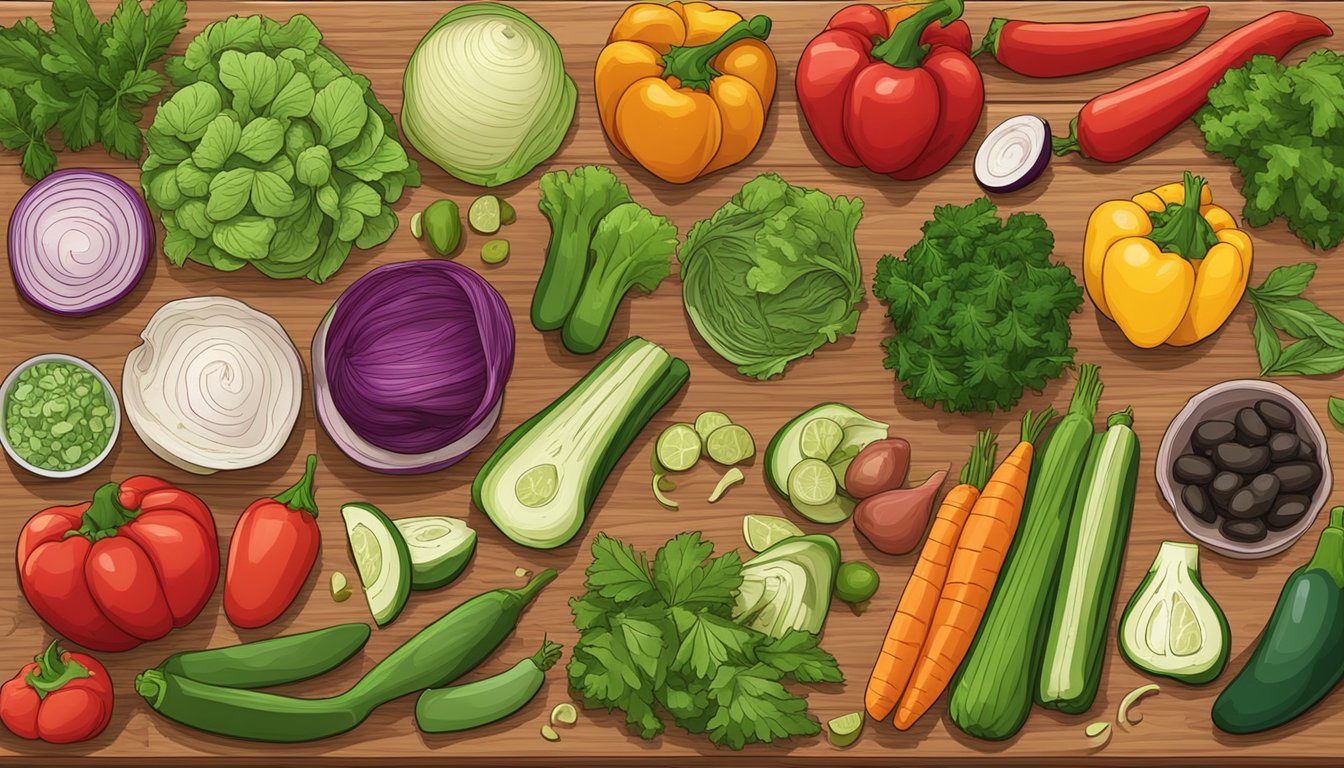
[[[1344,56],[1318,50],[1285,67],[1255,56],[1195,114],[1210,152],[1242,174],[1251,226],[1282,217],[1313,247],[1344,241]]]

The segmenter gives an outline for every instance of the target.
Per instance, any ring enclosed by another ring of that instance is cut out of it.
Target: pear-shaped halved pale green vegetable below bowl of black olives
[[[1120,617],[1120,654],[1140,670],[1203,685],[1227,663],[1227,619],[1199,581],[1199,547],[1164,541]]]

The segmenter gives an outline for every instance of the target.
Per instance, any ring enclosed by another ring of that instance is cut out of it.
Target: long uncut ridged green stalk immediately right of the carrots
[[[1031,712],[1059,560],[1101,390],[1097,366],[1082,366],[1068,413],[1032,461],[1017,535],[953,681],[952,721],[977,738],[1008,738]]]

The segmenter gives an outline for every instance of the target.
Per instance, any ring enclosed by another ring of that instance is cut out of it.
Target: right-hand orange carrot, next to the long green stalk
[[[948,581],[938,597],[933,629],[896,709],[894,722],[902,730],[914,725],[938,701],[970,648],[999,580],[999,569],[1017,534],[1027,479],[1031,476],[1032,443],[1054,418],[1052,408],[1036,416],[1027,412],[1021,420],[1021,443],[995,469],[966,516],[948,568]]]

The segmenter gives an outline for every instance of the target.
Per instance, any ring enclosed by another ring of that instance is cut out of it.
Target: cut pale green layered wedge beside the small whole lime
[[[742,565],[732,619],[773,638],[821,633],[840,568],[840,545],[825,534],[781,541]]]

